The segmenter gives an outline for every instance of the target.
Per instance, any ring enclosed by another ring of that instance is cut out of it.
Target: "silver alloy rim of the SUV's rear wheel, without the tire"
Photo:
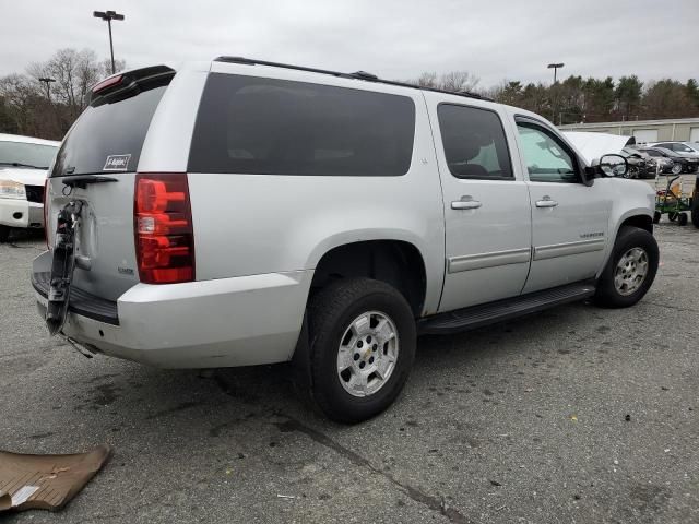
[[[399,354],[395,323],[379,311],[367,311],[345,330],[337,349],[340,383],[353,396],[379,391],[395,370]]]

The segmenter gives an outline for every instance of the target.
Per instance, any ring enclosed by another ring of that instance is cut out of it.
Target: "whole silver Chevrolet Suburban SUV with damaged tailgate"
[[[627,167],[587,165],[533,112],[365,72],[138,69],[97,84],[62,143],[32,283],[81,352],[291,360],[355,422],[396,398],[417,334],[640,300],[654,192],[613,178]]]

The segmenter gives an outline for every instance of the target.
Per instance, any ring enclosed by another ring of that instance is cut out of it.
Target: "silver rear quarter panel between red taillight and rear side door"
[[[275,72],[274,76],[311,81],[301,73],[286,71]],[[317,76],[311,79],[318,82]],[[328,83],[352,88],[371,86],[333,78]],[[395,90],[382,87],[386,93]],[[337,246],[375,239],[403,240],[423,255],[428,281],[424,313],[435,312],[445,253],[435,148],[422,94],[395,92],[411,96],[415,103],[413,157],[404,176],[190,172],[197,278],[313,270],[322,255]]]

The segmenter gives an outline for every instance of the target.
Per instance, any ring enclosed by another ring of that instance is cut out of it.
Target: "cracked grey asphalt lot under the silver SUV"
[[[0,445],[116,450],[63,511],[4,521],[699,522],[699,230],[656,236],[637,307],[420,338],[404,394],[354,427],[308,410],[284,366],[86,359],[36,313],[43,240],[2,245]]]

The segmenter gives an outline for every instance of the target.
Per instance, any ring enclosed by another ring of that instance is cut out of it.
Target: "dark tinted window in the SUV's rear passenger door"
[[[440,104],[439,130],[449,170],[458,178],[512,178],[500,118],[490,110]]]

